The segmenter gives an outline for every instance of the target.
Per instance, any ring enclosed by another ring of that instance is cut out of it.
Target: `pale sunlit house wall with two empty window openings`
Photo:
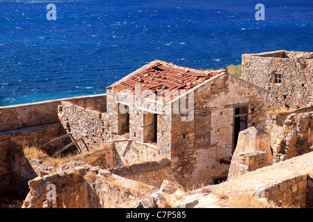
[[[145,114],[149,112],[143,109],[159,111],[162,114],[157,114],[157,145],[161,148],[161,155],[170,154],[170,127],[171,127],[171,112],[170,106],[164,106],[163,100],[156,101],[153,99],[141,96],[142,92],[134,94],[133,92],[114,92],[108,89],[107,92],[107,114],[109,123],[111,124],[111,138],[120,139],[118,104],[129,104],[129,134],[127,139],[134,139],[138,142],[146,142],[145,135],[147,127],[145,126]],[[157,110],[160,108],[161,110]],[[153,115],[153,114],[152,114]],[[149,142],[151,144],[151,142]]]

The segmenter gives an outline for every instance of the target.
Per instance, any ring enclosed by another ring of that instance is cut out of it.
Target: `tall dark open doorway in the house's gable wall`
[[[248,128],[248,107],[241,106],[234,108],[234,142],[232,153],[236,149],[239,132]]]

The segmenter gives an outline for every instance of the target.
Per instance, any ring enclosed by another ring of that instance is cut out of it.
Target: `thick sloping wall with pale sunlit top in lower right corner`
[[[310,207],[313,152],[245,173],[217,185],[229,192],[249,192],[280,207]]]

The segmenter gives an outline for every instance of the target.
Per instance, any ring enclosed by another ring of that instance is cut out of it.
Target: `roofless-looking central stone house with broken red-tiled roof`
[[[106,104],[111,137],[159,150],[187,186],[225,179],[239,131],[266,127],[266,90],[226,70],[160,60],[109,86]]]

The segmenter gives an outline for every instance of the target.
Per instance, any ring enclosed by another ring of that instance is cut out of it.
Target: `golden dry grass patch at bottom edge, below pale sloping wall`
[[[273,208],[275,205],[273,203],[265,203],[257,200],[253,194],[249,193],[239,193],[233,195],[227,203],[225,203],[230,208]]]

